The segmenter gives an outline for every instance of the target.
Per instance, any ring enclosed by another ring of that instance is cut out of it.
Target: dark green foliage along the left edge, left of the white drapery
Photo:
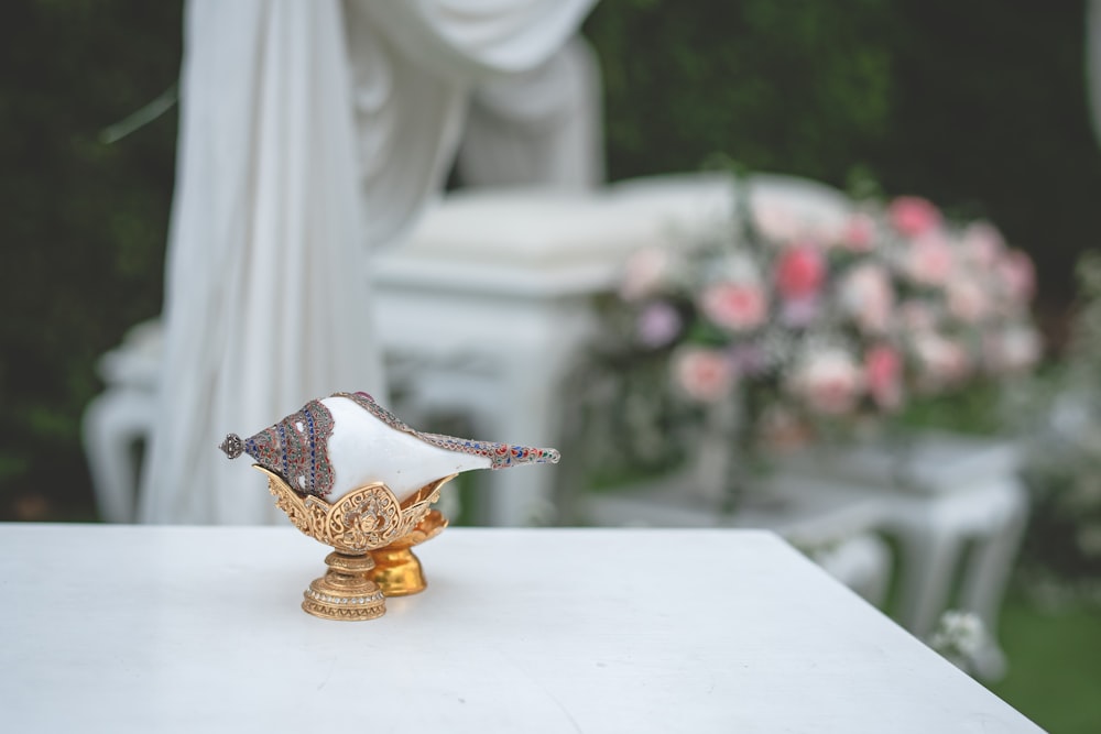
[[[0,10],[0,517],[90,505],[80,415],[95,359],[160,310],[175,114],[99,133],[175,81],[179,22],[178,2]]]

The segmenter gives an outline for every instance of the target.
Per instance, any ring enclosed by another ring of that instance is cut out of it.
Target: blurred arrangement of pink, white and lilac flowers
[[[619,306],[689,403],[740,402],[743,446],[863,425],[1039,358],[1032,261],[992,224],[918,197],[808,223],[738,190],[728,231],[637,252]]]

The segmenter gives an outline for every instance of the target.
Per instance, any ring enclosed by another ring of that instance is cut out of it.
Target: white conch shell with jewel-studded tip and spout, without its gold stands
[[[367,393],[310,401],[255,436],[230,434],[220,448],[230,459],[248,453],[299,493],[329,503],[372,482],[382,482],[404,502],[459,472],[559,459],[555,449],[414,430]]]

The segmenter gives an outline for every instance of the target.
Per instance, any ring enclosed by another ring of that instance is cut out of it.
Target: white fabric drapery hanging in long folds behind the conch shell
[[[143,522],[276,522],[225,434],[337,390],[384,399],[371,248],[439,189],[470,89],[544,64],[592,2],[186,4]]]

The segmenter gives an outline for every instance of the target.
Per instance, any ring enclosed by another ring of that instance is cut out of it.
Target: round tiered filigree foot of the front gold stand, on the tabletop
[[[324,620],[355,622],[386,613],[386,599],[369,574],[374,569],[370,554],[334,551],[325,557],[329,570],[314,579],[303,592],[302,609]]]

